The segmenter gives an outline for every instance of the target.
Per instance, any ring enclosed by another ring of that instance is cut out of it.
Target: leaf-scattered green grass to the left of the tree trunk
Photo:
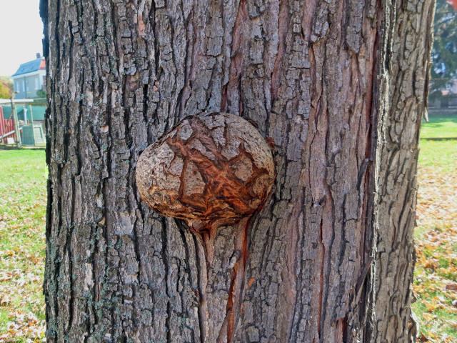
[[[45,212],[44,150],[0,150],[0,342],[44,334]]]

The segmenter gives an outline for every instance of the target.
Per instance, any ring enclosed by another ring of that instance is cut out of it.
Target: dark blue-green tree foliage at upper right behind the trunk
[[[433,31],[431,94],[457,78],[457,11],[446,0],[436,1]]]

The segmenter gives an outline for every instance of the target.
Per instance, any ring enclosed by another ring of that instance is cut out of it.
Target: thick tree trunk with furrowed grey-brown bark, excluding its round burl
[[[41,16],[49,342],[411,341],[433,0],[41,0]],[[209,111],[273,139],[276,182],[207,265],[134,174]]]

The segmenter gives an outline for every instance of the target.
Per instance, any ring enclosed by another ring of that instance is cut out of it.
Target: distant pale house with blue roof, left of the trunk
[[[46,62],[40,54],[36,59],[28,61],[19,66],[16,73],[11,76],[14,82],[16,99],[36,98],[37,91],[44,89],[46,82]]]

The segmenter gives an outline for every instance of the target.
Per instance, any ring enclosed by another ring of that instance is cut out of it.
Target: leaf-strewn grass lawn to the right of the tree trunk
[[[457,342],[457,115],[423,123],[420,148],[413,311],[419,342]]]

